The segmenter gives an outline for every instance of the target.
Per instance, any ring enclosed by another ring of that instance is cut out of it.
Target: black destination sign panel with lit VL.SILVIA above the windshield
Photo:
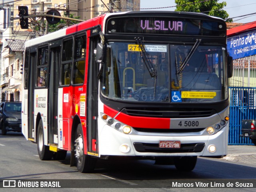
[[[224,22],[171,17],[110,18],[108,34],[166,34],[193,36],[226,36]]]

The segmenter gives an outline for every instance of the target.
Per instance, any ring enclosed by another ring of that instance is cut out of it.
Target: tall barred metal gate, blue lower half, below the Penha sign
[[[229,80],[230,123],[228,144],[252,144],[240,137],[242,120],[256,119],[256,59],[245,57],[233,61],[233,77]]]

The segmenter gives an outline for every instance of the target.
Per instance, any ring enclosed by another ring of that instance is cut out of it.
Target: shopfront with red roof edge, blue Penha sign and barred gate
[[[240,135],[242,120],[256,118],[256,22],[234,26],[227,30],[228,52],[233,57],[229,144],[252,144]]]

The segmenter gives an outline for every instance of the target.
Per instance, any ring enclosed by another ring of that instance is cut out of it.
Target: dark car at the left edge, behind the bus
[[[0,104],[0,126],[2,135],[8,131],[21,132],[21,102],[4,101]]]

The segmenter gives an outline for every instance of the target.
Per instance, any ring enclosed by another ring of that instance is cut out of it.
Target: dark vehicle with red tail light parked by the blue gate
[[[252,143],[256,145],[256,120],[244,119],[242,120],[242,129],[240,137],[248,137]]]

